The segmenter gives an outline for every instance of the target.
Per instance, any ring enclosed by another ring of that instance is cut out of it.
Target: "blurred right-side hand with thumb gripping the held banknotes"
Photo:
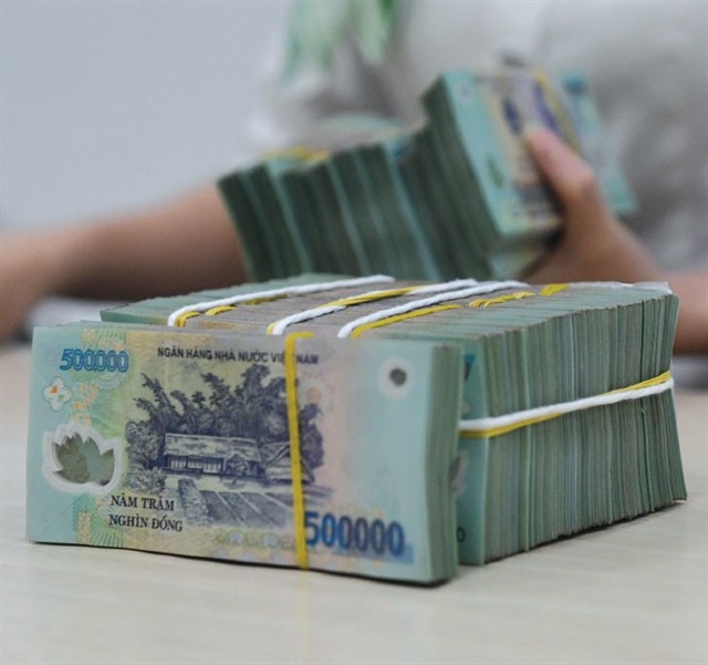
[[[592,168],[545,128],[527,132],[527,143],[559,198],[564,220],[558,245],[527,280],[663,280],[639,240],[605,206]]]

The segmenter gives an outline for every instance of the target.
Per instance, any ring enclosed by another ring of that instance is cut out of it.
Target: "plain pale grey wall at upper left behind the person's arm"
[[[156,202],[228,170],[289,4],[2,0],[2,232]]]

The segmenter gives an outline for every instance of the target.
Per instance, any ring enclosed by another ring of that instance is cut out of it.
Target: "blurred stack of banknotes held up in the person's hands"
[[[560,218],[523,138],[563,137],[618,214],[633,198],[585,79],[509,67],[442,74],[426,122],[344,116],[227,175],[219,187],[253,281],[303,272],[508,279],[548,250]]]

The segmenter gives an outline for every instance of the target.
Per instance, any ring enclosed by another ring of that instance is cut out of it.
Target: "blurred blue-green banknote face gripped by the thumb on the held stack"
[[[513,239],[560,226],[554,197],[523,139],[528,126],[558,134],[595,169],[610,207],[632,209],[632,193],[582,74],[556,80],[528,67],[492,74],[451,71],[424,100],[445,154],[462,149],[478,196],[489,208],[492,236]]]

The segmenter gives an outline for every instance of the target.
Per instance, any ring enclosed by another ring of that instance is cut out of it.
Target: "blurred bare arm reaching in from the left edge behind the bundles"
[[[209,184],[154,208],[0,238],[0,337],[46,295],[140,300],[244,279],[239,238]]]

